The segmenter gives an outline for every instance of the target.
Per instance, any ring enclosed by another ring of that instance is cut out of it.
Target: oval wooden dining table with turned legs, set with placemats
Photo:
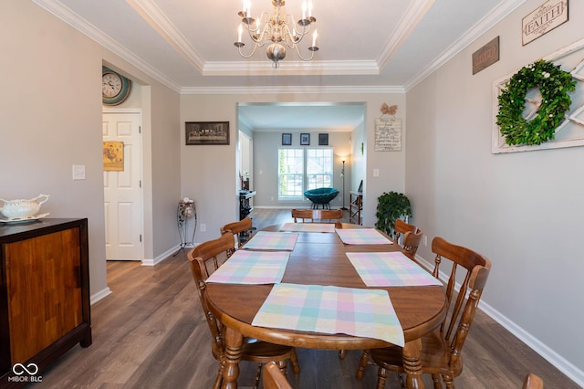
[[[269,226],[263,231],[279,231],[283,225]],[[337,223],[336,228],[363,226]],[[297,242],[287,262],[282,282],[301,285],[337,286],[356,289],[384,289],[400,321],[405,345],[403,365],[408,388],[423,388],[420,352],[421,337],[437,328],[448,310],[445,293],[440,286],[367,287],[350,263],[349,252],[400,251],[397,244],[347,245],[336,233],[298,232]],[[364,350],[393,346],[380,339],[293,331],[252,325],[273,288],[268,285],[207,283],[210,310],[224,323],[225,368],[224,388],[236,388],[244,337],[294,347],[328,350]],[[300,364],[302,362],[300,361]]]

